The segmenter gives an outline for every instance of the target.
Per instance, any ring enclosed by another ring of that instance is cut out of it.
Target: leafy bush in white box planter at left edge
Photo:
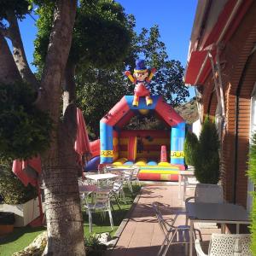
[[[30,184],[25,187],[11,171],[9,161],[0,162],[0,195],[3,202],[0,212],[14,212],[15,226],[26,226],[39,216],[37,190]]]

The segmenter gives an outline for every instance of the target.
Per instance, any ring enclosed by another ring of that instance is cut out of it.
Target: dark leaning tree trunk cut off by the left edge
[[[2,33],[0,33],[0,53],[0,83],[11,84],[15,80],[20,80],[20,73]]]

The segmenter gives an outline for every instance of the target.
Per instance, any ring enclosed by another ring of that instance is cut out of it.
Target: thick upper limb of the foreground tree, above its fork
[[[38,105],[44,110],[49,110],[55,121],[60,116],[61,77],[63,77],[71,47],[76,6],[76,0],[59,0],[56,3],[53,28],[41,81],[46,97]]]

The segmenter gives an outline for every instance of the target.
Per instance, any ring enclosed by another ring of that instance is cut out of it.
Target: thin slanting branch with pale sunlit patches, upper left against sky
[[[7,20],[9,21],[9,38],[13,44],[14,59],[20,72],[20,76],[28,84],[32,84],[36,89],[38,89],[38,80],[32,73],[26,60],[24,46],[20,37],[20,28],[15,13],[10,11],[7,12]]]

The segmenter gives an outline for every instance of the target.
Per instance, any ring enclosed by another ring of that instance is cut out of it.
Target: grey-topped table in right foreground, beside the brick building
[[[239,233],[240,224],[250,224],[246,209],[230,203],[187,202],[186,212],[190,220],[189,256],[192,256],[195,222],[236,224],[236,233]]]

